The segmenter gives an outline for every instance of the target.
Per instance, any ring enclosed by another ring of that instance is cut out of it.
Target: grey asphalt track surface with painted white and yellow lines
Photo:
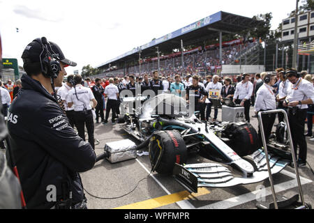
[[[214,114],[214,111],[211,113]],[[251,107],[251,116],[253,107]],[[111,115],[110,115],[111,117]],[[218,120],[221,118],[219,111]],[[251,118],[251,124],[257,129],[257,118]],[[121,130],[119,125],[112,125],[109,120],[108,125],[95,124],[95,137],[100,141],[96,146],[96,154],[103,153],[103,148],[107,142],[130,139],[136,144],[133,137]],[[308,163],[314,167],[314,142],[308,141]],[[188,159],[188,164],[211,162],[192,155]],[[102,160],[95,164],[90,171],[81,174],[84,189],[96,197],[96,199],[86,194],[88,208],[90,209],[255,209],[258,199],[266,196],[266,201],[272,201],[269,180],[253,185],[237,185],[229,188],[199,188],[197,194],[190,194],[177,183],[172,176],[160,176],[151,172],[151,164],[148,156],[137,157],[136,160],[110,164],[107,160]],[[301,176],[302,190],[306,203],[314,205],[314,176],[309,167],[299,169]],[[298,194],[297,180],[294,169],[286,167],[281,173],[274,175],[275,190],[278,196],[287,197]],[[140,183],[138,183],[142,180]],[[130,194],[121,197],[136,189]],[[266,190],[261,190],[266,188]],[[121,197],[119,199],[112,199]]]

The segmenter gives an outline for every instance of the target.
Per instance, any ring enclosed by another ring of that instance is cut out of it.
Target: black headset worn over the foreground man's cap
[[[43,51],[39,55],[40,66],[43,75],[45,77],[56,79],[59,75],[59,72],[61,71],[60,62],[58,61],[58,54],[53,51],[50,43],[47,41],[47,38],[36,38],[34,41],[39,43],[43,48]],[[45,54],[43,59],[41,59],[42,54]]]

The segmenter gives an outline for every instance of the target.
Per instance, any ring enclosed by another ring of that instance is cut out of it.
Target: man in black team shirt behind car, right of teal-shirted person
[[[193,84],[186,88],[186,100],[188,100],[190,105],[193,105],[192,100],[194,100],[195,112],[202,110],[202,103],[204,103],[207,98],[207,91],[199,84],[199,80],[200,77],[194,75]],[[203,98],[202,95],[204,95]],[[202,117],[202,119],[204,119],[204,117]]]

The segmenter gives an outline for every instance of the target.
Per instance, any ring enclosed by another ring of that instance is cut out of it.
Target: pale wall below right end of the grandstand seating
[[[223,65],[222,75],[235,75],[241,73],[261,73],[265,71],[264,65]]]

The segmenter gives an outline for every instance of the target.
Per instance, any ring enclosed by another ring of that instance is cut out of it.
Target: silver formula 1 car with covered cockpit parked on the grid
[[[138,150],[149,148],[152,171],[173,174],[186,190],[252,184],[269,177],[265,153],[249,123],[202,122],[198,112],[189,115],[186,100],[172,94],[137,105],[134,114],[124,114],[118,123],[142,141]],[[290,164],[290,153],[275,147],[269,151],[272,174]],[[195,152],[213,162],[187,164]]]

